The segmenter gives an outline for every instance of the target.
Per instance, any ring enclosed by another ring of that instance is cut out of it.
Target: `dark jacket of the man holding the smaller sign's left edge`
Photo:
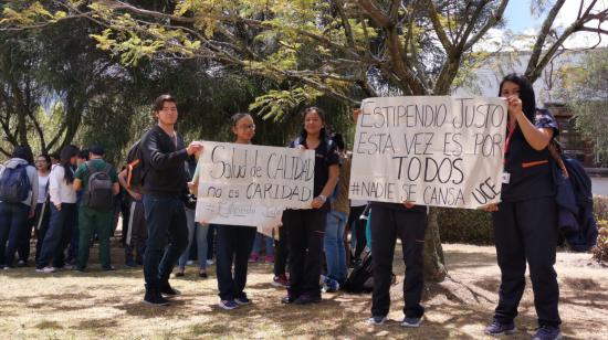
[[[184,162],[188,153],[181,136],[176,132],[177,147],[159,126],[141,137],[143,178],[145,194],[174,195],[181,198],[188,190]]]

